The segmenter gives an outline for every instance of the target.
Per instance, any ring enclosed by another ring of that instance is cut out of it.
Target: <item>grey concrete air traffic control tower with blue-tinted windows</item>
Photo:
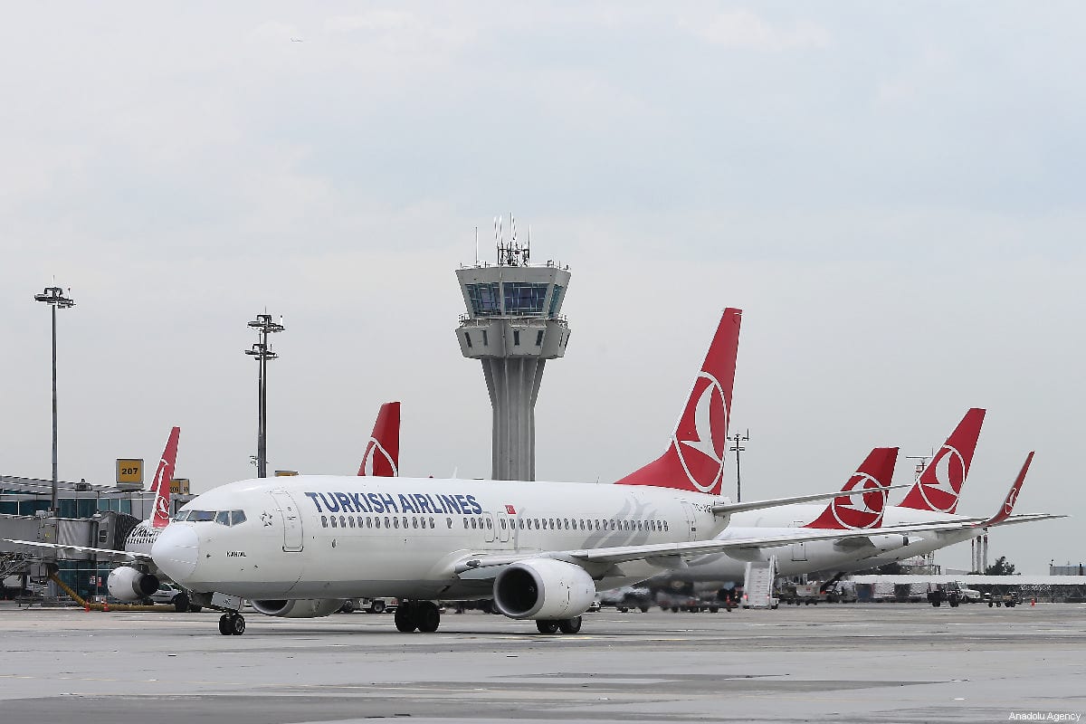
[[[456,270],[467,314],[456,338],[465,357],[482,361],[494,411],[494,480],[535,480],[535,398],[547,359],[561,357],[569,326],[561,303],[569,267],[530,266],[529,244],[498,234],[497,266],[476,261]]]

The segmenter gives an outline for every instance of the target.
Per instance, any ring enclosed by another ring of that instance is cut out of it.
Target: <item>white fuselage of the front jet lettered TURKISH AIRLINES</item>
[[[481,598],[489,596],[492,576],[455,570],[470,556],[707,539],[728,523],[711,511],[720,501],[643,485],[248,480],[186,505],[152,555],[186,588],[244,598]],[[241,511],[244,520],[185,520],[197,511],[205,519],[209,512]],[[589,570],[604,589],[642,581],[666,566],[632,561]]]

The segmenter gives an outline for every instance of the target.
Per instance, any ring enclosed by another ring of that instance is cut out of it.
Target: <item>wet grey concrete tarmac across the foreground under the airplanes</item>
[[[1086,713],[1086,606],[821,605],[585,615],[84,612],[0,606],[0,721],[1006,722]]]

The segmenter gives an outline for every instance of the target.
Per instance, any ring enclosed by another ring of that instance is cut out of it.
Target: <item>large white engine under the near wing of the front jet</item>
[[[596,584],[580,566],[529,558],[494,579],[494,605],[510,619],[572,619],[589,610]]]

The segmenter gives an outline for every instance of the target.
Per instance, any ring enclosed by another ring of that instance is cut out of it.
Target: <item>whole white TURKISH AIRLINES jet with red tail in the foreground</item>
[[[735,512],[841,495],[748,503],[721,495],[741,315],[724,310],[667,450],[649,463],[656,480],[243,480],[186,505],[151,556],[195,600],[224,610],[223,635],[244,633],[242,599],[265,615],[317,618],[346,598],[384,596],[401,599],[402,632],[437,631],[435,600],[492,598],[541,633],[574,634],[597,589],[682,567],[686,557],[869,535],[793,530],[716,539]]]

